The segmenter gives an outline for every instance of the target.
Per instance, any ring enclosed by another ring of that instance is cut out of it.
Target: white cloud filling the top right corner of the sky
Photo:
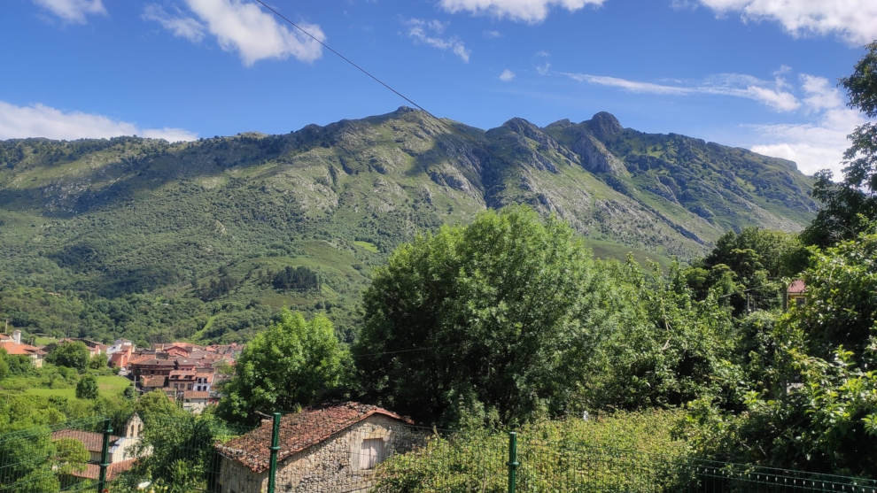
[[[874,0],[700,0],[718,14],[739,12],[744,21],[773,20],[789,34],[839,35],[853,44],[877,39]]]

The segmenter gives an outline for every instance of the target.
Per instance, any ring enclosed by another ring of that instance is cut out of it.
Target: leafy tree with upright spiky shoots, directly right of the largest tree
[[[697,301],[679,269],[657,266],[642,272],[629,258],[615,269],[631,286],[625,304],[635,311],[626,327],[594,349],[583,393],[593,408],[676,407],[725,389],[716,374],[726,371],[733,350],[730,311],[715,295]]]

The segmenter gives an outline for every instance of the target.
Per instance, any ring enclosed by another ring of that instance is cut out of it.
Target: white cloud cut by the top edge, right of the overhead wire
[[[471,12],[523,22],[537,23],[545,20],[548,10],[557,6],[576,12],[585,5],[600,6],[605,0],[441,0],[439,5],[447,12]]]

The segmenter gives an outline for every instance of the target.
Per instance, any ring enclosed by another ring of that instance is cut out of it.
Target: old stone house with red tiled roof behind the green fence
[[[277,452],[277,491],[365,491],[374,468],[393,453],[423,442],[413,422],[375,405],[348,402],[283,416]],[[272,421],[217,444],[215,491],[268,490]]]

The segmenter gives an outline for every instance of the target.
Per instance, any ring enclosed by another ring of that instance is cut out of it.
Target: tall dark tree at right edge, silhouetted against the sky
[[[877,119],[877,42],[866,49],[841,85],[847,90],[850,108]],[[834,183],[830,172],[817,173],[813,196],[823,205],[803,232],[806,243],[828,246],[855,238],[867,220],[877,219],[877,123],[863,123],[849,138],[850,148],[843,154],[843,180]]]

